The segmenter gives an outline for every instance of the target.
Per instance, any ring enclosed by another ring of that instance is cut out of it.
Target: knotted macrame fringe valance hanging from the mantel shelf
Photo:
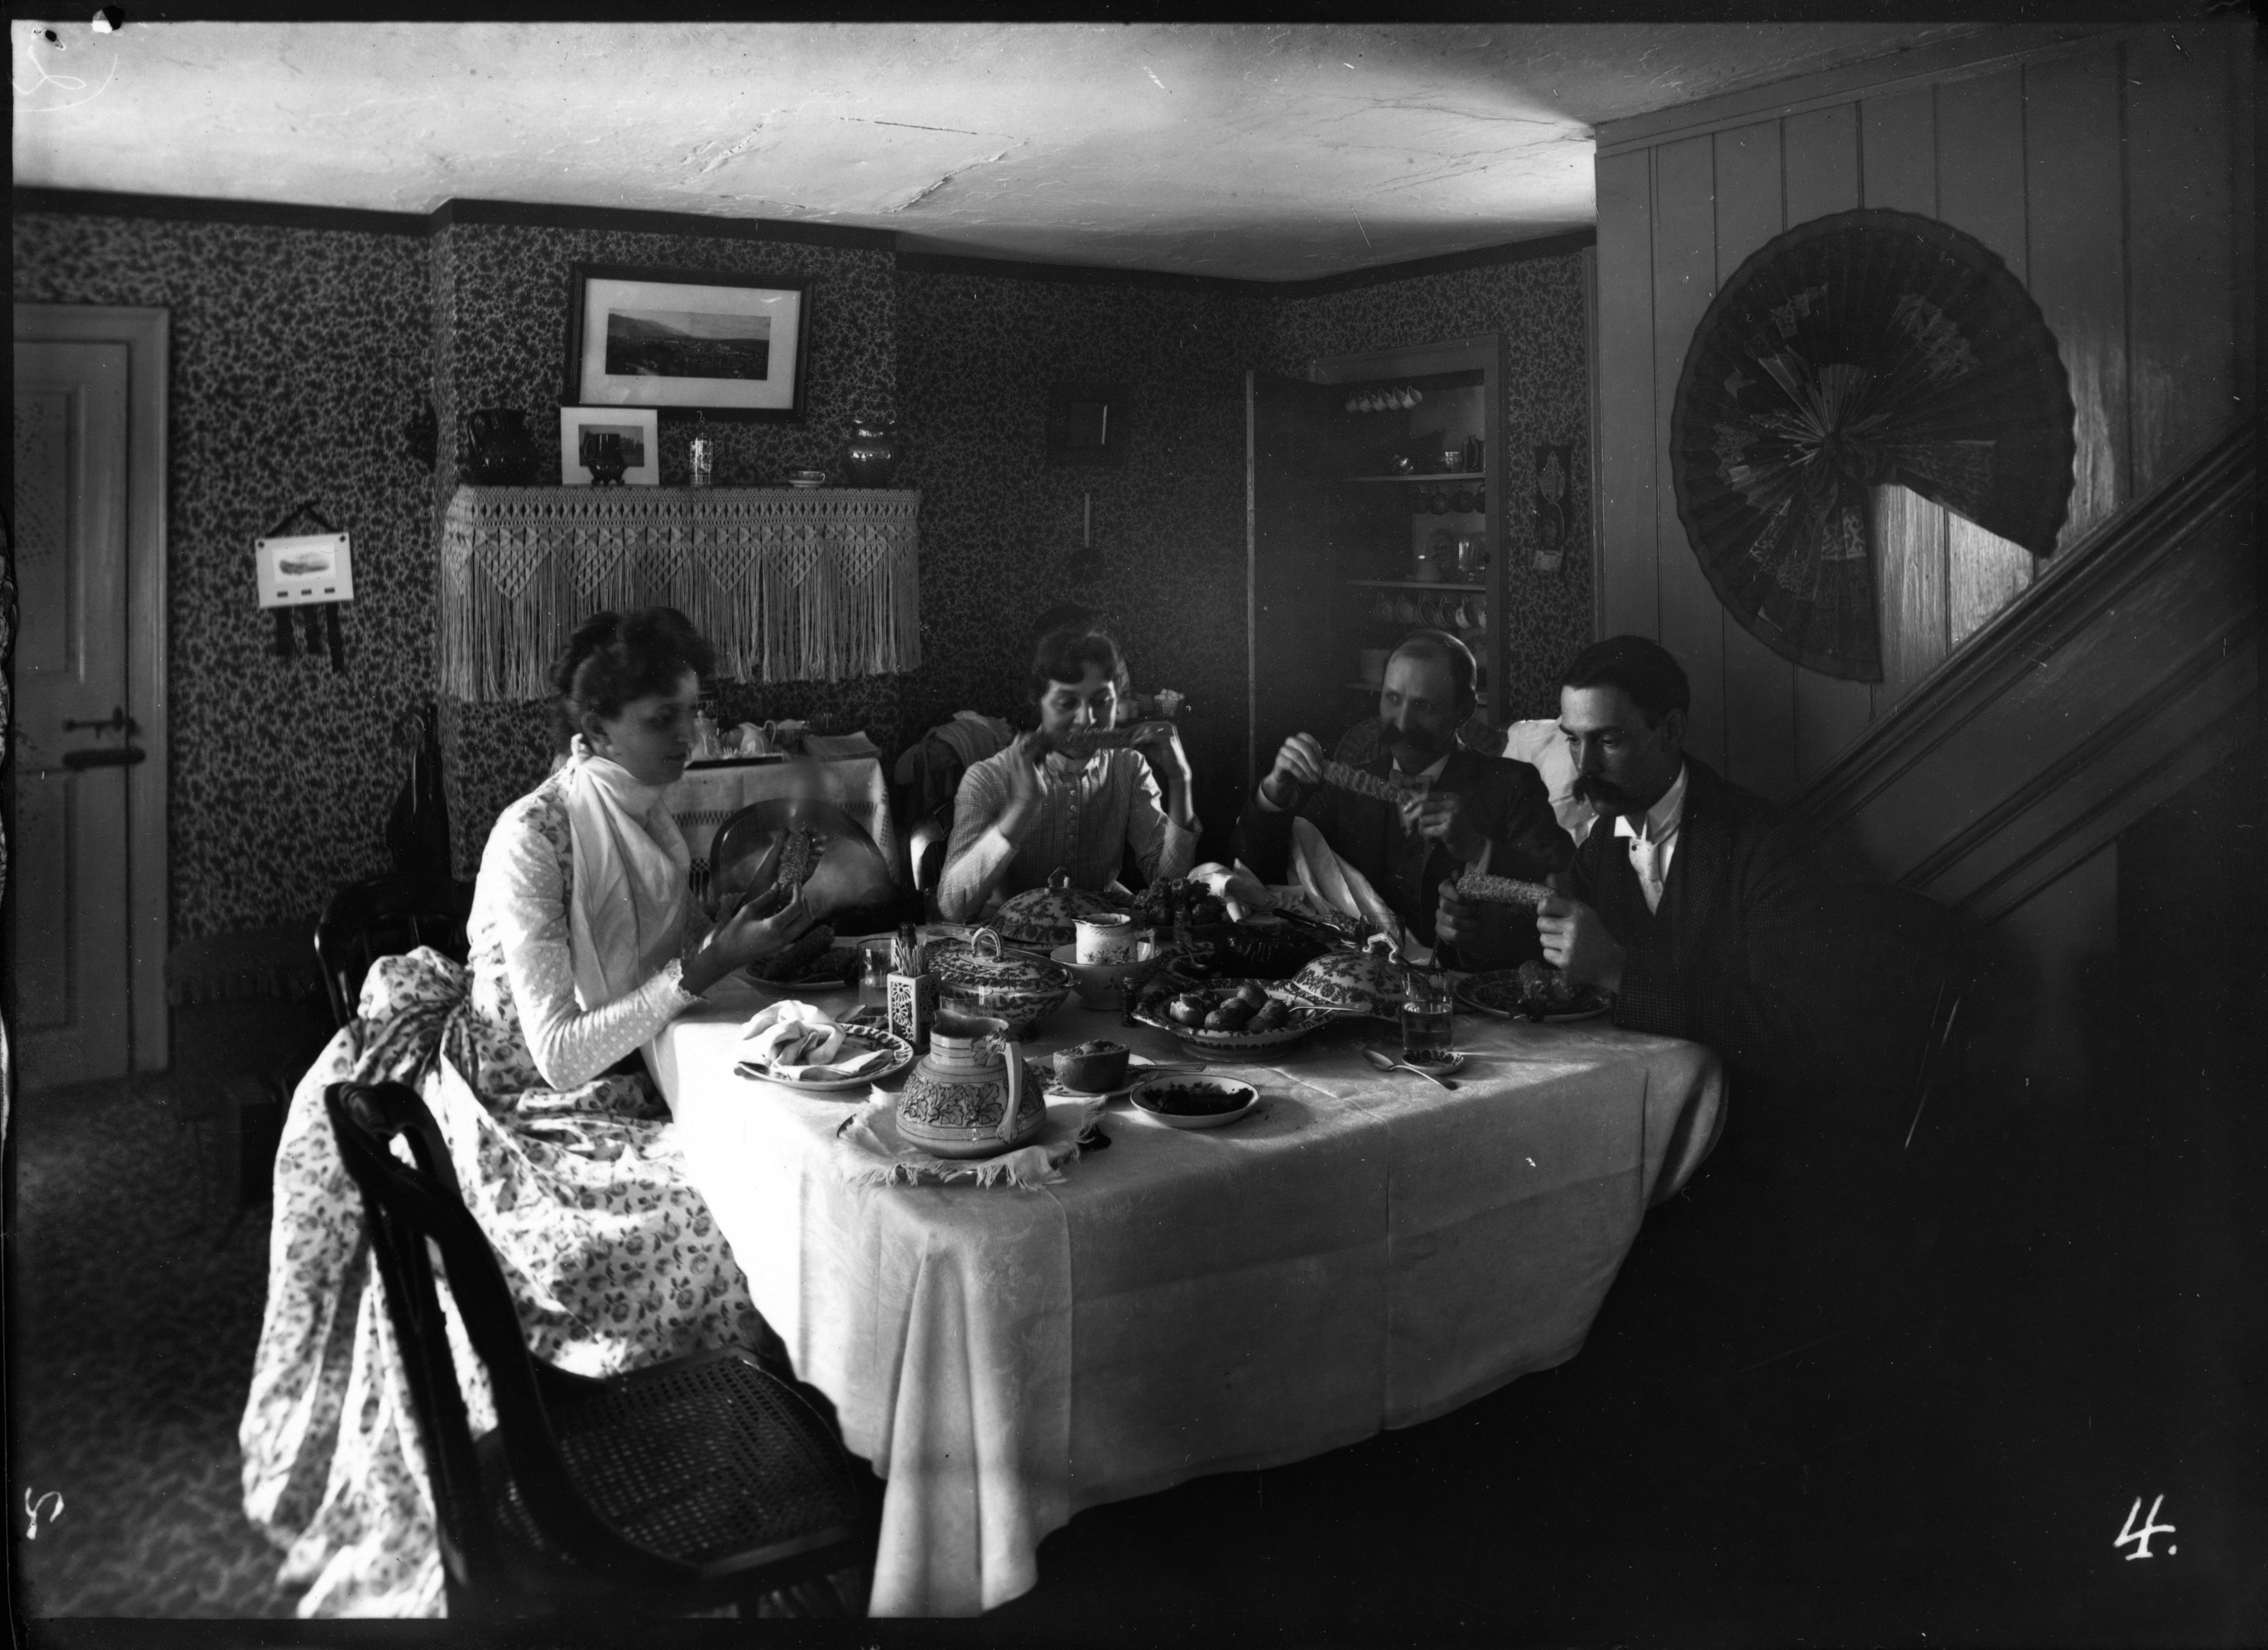
[[[921,664],[919,492],[458,487],[440,535],[440,689],[549,698],[576,623],[680,607],[742,682]]]

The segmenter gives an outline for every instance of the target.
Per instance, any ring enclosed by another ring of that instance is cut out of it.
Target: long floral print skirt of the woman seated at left
[[[644,1079],[479,1095],[465,1072],[524,1063],[497,1058],[506,1049],[485,1047],[497,1036],[510,1034],[472,1013],[456,963],[429,950],[383,956],[361,1018],[293,1092],[238,1444],[245,1514],[284,1548],[281,1582],[306,1589],[302,1616],[445,1614],[417,1421],[361,1197],[322,1108],[329,1083],[422,1092],[538,1358],[612,1376],[708,1346],[753,1349],[762,1335]],[[449,1328],[479,1435],[494,1426],[488,1376],[454,1308]]]

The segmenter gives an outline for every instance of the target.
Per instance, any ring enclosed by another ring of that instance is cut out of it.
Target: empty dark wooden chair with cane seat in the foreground
[[[608,1380],[533,1358],[424,1102],[399,1083],[331,1083],[324,1108],[363,1194],[451,1616],[864,1607],[873,1482],[792,1376],[744,1349]],[[497,1426],[481,1439],[449,1353],[435,1256],[494,1394]]]

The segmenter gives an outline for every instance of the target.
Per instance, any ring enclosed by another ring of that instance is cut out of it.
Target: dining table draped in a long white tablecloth
[[[873,1183],[841,1138],[882,1090],[735,1072],[771,995],[735,981],[646,1056],[685,1172],[796,1376],[885,1478],[869,1614],[975,1616],[1039,1580],[1082,1507],[1320,1455],[1574,1358],[1649,1206],[1708,1156],[1724,1068],[1606,1018],[1461,1011],[1454,1090],[1379,1072],[1386,1020],[1209,1070],[1259,1088],[1220,1129],[1048,1102],[1107,1147],[1052,1181]],[[814,1006],[846,1011],[841,997]],[[1025,1043],[1161,1029],[1066,1002]]]

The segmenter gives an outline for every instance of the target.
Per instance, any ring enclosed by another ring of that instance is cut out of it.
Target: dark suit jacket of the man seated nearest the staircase
[[[1898,1165],[1957,922],[1828,864],[1706,764],[1687,757],[1685,775],[1660,911],[1613,820],[1574,864],[1576,898],[1626,950],[1615,1024],[1706,1043],[1730,1074],[1724,1136],[1678,1199],[1681,1242],[1744,1281],[1737,1310],[1785,1290],[1860,1301],[1901,1253]]]

